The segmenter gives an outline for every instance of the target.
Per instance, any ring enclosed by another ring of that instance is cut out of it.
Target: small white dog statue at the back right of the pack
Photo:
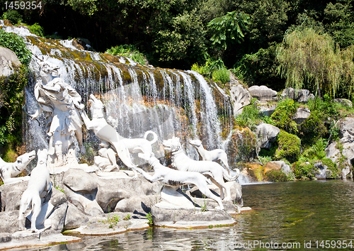
[[[224,163],[227,172],[230,174],[230,168],[229,164],[227,163],[227,154],[224,150],[222,149],[215,149],[215,150],[205,150],[205,148],[202,146],[202,141],[200,140],[189,140],[190,145],[193,145],[195,150],[199,153],[200,157],[202,157],[202,160],[205,161],[217,161],[221,160],[222,163]]]

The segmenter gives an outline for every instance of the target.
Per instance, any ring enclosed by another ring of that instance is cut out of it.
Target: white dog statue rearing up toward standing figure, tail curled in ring
[[[156,133],[148,130],[145,133],[144,138],[124,138],[119,135],[115,128],[109,125],[103,117],[102,102],[96,99],[93,94],[90,95],[89,102],[91,104],[92,120],[90,121],[84,111],[81,113],[81,117],[83,118],[87,129],[93,130],[98,138],[110,143],[117,152],[118,157],[120,157],[120,160],[122,160],[127,167],[137,167],[130,159],[130,152],[142,152],[145,159],[149,159],[149,157],[154,155],[152,152],[152,144],[157,141]],[[147,140],[147,135],[150,133],[154,135],[154,138],[149,141]],[[136,172],[135,177],[137,177]]]

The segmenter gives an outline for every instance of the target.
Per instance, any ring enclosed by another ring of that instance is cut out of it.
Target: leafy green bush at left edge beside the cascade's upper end
[[[8,48],[15,52],[18,60],[23,65],[28,65],[32,58],[32,53],[25,46],[23,38],[13,33],[6,33],[4,30],[0,30],[0,46]]]

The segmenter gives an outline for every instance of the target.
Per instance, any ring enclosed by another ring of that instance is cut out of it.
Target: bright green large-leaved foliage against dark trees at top
[[[249,24],[249,15],[243,12],[232,11],[225,16],[214,18],[207,27],[212,33],[212,44],[224,50],[228,44],[241,43],[244,39],[243,30]]]

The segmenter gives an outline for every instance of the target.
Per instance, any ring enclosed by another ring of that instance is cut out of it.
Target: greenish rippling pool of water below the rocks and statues
[[[150,228],[36,250],[354,250],[353,181],[251,184],[242,191],[252,211],[232,227]]]

